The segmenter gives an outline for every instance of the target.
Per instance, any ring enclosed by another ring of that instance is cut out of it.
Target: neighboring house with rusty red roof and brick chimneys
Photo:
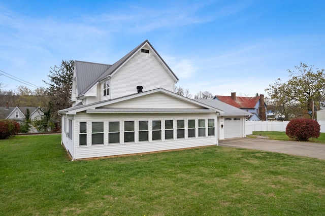
[[[264,102],[264,95],[255,97],[237,97],[236,92],[231,96],[216,95],[213,99],[228,103],[252,115],[247,118],[250,121],[267,121],[267,105]]]

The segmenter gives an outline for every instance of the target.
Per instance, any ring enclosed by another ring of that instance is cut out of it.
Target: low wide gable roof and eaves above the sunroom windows
[[[125,100],[129,100],[129,99],[133,99],[133,98],[138,98],[138,97],[143,97],[145,95],[149,95],[149,94],[153,94],[153,93],[157,93],[157,92],[161,92],[164,93],[166,95],[178,98],[180,100],[183,101],[187,101],[189,103],[192,104],[197,104],[199,106],[202,107],[202,109],[151,109],[151,108],[133,108],[133,109],[125,109],[125,108],[121,108],[121,109],[109,109],[109,108],[99,108],[99,107],[103,107],[103,106],[107,106],[113,103],[117,103],[117,102],[121,102],[121,101],[125,101]],[[118,97],[118,98],[114,98],[114,99],[108,99],[108,100],[104,100],[104,101],[98,101],[98,102],[94,102],[94,103],[90,103],[90,104],[85,104],[85,105],[79,105],[79,106],[74,106],[74,107],[70,107],[68,109],[64,109],[64,110],[60,110],[58,111],[59,114],[67,114],[67,115],[76,115],[79,112],[83,112],[86,111],[87,113],[99,113],[99,112],[104,112],[104,113],[109,113],[109,112],[144,112],[144,113],[148,113],[148,112],[164,112],[164,113],[173,113],[173,112],[214,112],[214,113],[222,113],[222,110],[219,110],[217,107],[212,107],[210,105],[207,105],[205,103],[201,103],[200,101],[196,101],[196,100],[192,100],[189,99],[187,97],[183,97],[181,95],[178,95],[174,92],[170,92],[166,89],[163,88],[158,88],[158,89],[153,89],[153,90],[149,90],[149,91],[145,91],[145,92],[141,92],[141,93],[135,93],[135,94],[131,94],[131,95],[126,95],[126,96],[122,96],[122,97]]]

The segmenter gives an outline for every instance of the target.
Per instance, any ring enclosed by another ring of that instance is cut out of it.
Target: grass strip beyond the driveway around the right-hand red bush
[[[256,135],[268,136],[269,139],[290,141],[285,132],[277,131],[253,131],[253,135],[247,135],[247,137],[256,138]],[[310,138],[309,142],[325,143],[325,133],[320,133],[318,138]]]

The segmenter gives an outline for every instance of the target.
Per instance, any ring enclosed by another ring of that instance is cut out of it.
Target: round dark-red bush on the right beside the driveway
[[[312,119],[294,119],[286,126],[285,134],[291,139],[307,141],[311,137],[320,136],[320,125]]]

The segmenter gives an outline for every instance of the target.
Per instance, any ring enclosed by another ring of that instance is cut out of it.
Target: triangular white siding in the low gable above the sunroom
[[[161,108],[161,109],[202,109],[202,106],[180,100],[161,92],[111,104],[110,108]]]

